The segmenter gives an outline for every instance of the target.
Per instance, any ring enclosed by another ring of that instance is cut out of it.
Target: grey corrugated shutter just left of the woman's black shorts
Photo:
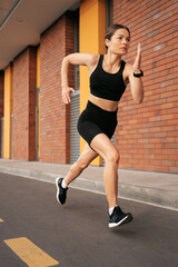
[[[70,103],[70,162],[73,164],[80,156],[80,136],[77,130],[79,119],[80,92],[71,93]]]

